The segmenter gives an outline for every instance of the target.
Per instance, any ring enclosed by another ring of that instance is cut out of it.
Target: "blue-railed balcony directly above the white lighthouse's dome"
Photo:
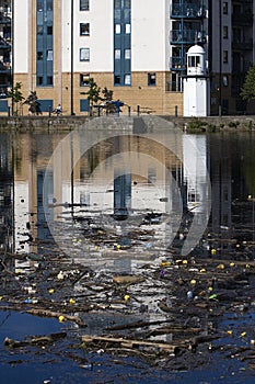
[[[172,30],[170,33],[170,44],[172,45],[193,45],[195,43],[206,43],[206,34],[204,31]]]

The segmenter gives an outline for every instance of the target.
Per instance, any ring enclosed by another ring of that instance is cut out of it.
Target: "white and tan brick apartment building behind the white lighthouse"
[[[11,61],[4,60],[11,63],[12,81],[22,82],[25,97],[36,91],[43,113],[60,103],[65,114],[88,114],[85,92],[93,78],[124,101],[124,113],[129,106],[182,115],[186,54],[195,44],[206,52],[210,113],[251,112],[240,90],[254,63],[253,0],[0,3],[8,9],[3,15],[11,11],[12,44],[4,50]],[[0,25],[8,37],[10,25]]]

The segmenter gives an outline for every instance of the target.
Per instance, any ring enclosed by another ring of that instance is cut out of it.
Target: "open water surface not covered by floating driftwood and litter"
[[[0,133],[1,252],[45,255],[57,246],[96,271],[120,272],[157,262],[166,250],[181,257],[194,253],[254,260],[254,133],[186,135],[169,126],[144,128],[140,121],[131,128],[111,126],[105,131],[103,125],[72,133]],[[155,223],[157,229],[146,239],[134,241],[127,236]],[[106,228],[111,239],[95,246],[93,228]],[[116,234],[121,244],[115,242]],[[131,246],[127,259],[111,259],[111,250],[118,246]],[[141,250],[146,256],[135,258]],[[28,266],[15,261],[9,267],[25,271]],[[1,338],[11,334],[22,339],[61,329],[57,320],[0,315]],[[69,347],[62,343],[57,348]],[[13,359],[0,347],[0,355],[2,383],[254,380],[231,361],[220,366],[212,361],[206,371],[190,373],[165,372],[135,358],[119,360],[96,352],[79,368],[68,353],[62,361],[54,347],[51,354],[26,355],[24,350]]]

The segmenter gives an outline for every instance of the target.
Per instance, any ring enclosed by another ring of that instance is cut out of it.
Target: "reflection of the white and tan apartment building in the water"
[[[181,252],[188,233],[197,255],[236,250],[232,202],[244,181],[217,138],[208,148],[206,135],[171,132],[20,134],[13,155],[10,143],[1,134],[1,248],[43,253],[57,244],[80,261],[125,269]]]

